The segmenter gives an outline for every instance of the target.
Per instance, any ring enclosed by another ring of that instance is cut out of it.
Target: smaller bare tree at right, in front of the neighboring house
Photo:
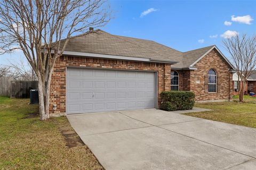
[[[248,37],[238,34],[223,40],[223,44],[231,56],[231,62],[235,66],[238,75],[239,101],[244,101],[244,88],[247,79],[256,69],[256,36]],[[241,80],[241,85],[239,80]]]

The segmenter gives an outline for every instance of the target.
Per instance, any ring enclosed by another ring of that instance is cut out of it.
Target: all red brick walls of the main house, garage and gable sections
[[[228,100],[232,95],[232,73],[230,66],[221,57],[217,50],[213,49],[196,65],[197,70],[178,71],[180,76],[180,90],[194,91],[196,100]],[[51,82],[50,113],[66,112],[66,68],[89,67],[99,69],[120,69],[155,71],[158,73],[158,105],[161,103],[159,94],[171,89],[171,65],[159,63],[132,62],[121,60],[107,60],[90,57],[62,56],[54,66]],[[218,91],[209,93],[205,91],[205,75],[210,69],[217,72]],[[53,111],[53,104],[57,110]]]

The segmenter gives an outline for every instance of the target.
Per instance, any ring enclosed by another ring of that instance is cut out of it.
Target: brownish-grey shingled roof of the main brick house
[[[61,45],[63,43],[64,41],[61,42]],[[111,35],[98,29],[70,38],[65,52],[113,55],[123,58],[149,58],[152,61],[173,62],[172,67],[175,69],[189,69],[213,48],[217,47],[209,46],[182,53],[155,41]],[[225,56],[223,57],[225,58]]]

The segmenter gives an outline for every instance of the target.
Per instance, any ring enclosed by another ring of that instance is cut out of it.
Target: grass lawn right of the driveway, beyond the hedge
[[[245,103],[196,103],[195,107],[213,111],[186,113],[185,115],[256,128],[256,104],[251,102],[251,98],[249,99],[250,101],[247,100]]]

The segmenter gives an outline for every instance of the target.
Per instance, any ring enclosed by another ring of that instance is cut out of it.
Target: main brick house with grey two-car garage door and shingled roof
[[[194,91],[197,101],[229,100],[233,69],[216,46],[182,53],[90,30],[70,39],[55,63],[50,113],[158,108],[168,90]]]

